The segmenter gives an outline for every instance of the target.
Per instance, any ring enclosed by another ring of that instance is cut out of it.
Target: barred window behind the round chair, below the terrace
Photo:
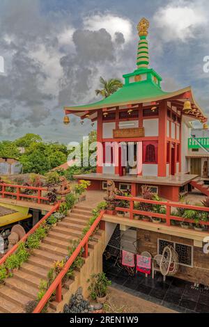
[[[178,253],[178,263],[182,266],[193,266],[193,246],[176,243],[164,239],[158,239],[157,253],[162,255],[165,246],[171,245]]]

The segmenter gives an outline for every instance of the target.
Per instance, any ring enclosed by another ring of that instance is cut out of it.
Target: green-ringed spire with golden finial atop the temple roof
[[[139,45],[137,51],[137,67],[138,69],[141,68],[148,68],[149,64],[149,53],[148,53],[148,42],[146,37],[148,35],[148,27],[150,23],[146,18],[142,18],[139,24],[137,25],[137,30],[139,34]]]

